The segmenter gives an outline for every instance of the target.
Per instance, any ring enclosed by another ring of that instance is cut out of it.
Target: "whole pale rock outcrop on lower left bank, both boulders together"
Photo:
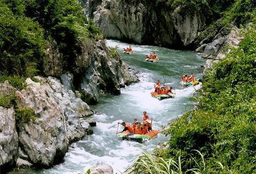
[[[13,108],[0,107],[0,166],[50,167],[60,162],[68,145],[91,134],[84,118],[90,107],[56,78],[27,79],[27,87],[16,91],[18,108],[31,108],[35,118],[16,117]],[[2,85],[3,86],[3,85]],[[13,89],[8,82],[2,91]],[[19,119],[19,120],[17,120]],[[26,121],[27,120],[27,121]]]

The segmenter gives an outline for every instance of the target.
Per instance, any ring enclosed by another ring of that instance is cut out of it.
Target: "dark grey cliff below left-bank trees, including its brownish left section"
[[[46,75],[61,77],[63,83],[79,91],[83,101],[88,104],[98,102],[100,90],[120,94],[120,87],[139,81],[135,71],[122,62],[119,55],[111,55],[105,40],[84,40],[81,53],[68,67],[59,63],[62,55],[58,53],[55,42],[49,45],[46,54]],[[67,71],[74,77],[73,80],[61,76]]]

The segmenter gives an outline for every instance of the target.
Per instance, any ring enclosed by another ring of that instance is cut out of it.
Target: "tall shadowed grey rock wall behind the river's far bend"
[[[205,23],[199,14],[156,9],[150,1],[84,0],[83,4],[84,13],[105,37],[141,44],[184,47],[193,43]]]

